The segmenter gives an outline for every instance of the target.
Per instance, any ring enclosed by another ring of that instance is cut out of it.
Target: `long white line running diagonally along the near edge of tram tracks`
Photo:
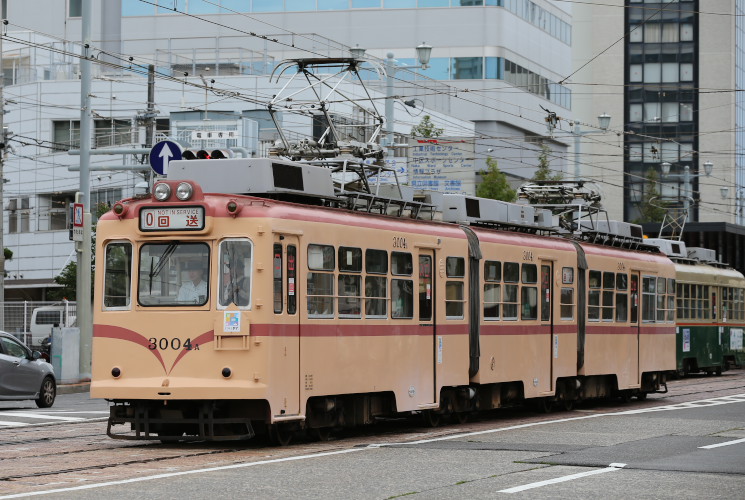
[[[737,394],[736,396],[745,397],[745,394]],[[733,397],[733,396],[727,396],[727,397]],[[715,401],[718,398],[714,399],[706,399],[702,401]],[[729,403],[739,403],[743,401],[728,401]],[[673,405],[674,406],[674,405]],[[30,496],[40,496],[40,495],[48,495],[53,493],[63,493],[67,491],[77,491],[77,490],[87,490],[92,488],[102,488],[105,486],[114,486],[118,484],[128,484],[128,483],[136,483],[141,481],[152,481],[154,479],[164,479],[169,477],[176,477],[176,476],[185,476],[190,474],[201,474],[203,472],[214,472],[214,471],[222,471],[222,470],[228,470],[228,469],[239,469],[244,467],[253,467],[258,465],[267,465],[267,464],[275,464],[275,463],[281,463],[281,462],[290,462],[295,460],[304,460],[308,458],[319,458],[319,457],[325,457],[325,456],[332,456],[332,455],[341,455],[344,453],[352,453],[355,451],[362,451],[362,450],[372,450],[372,449],[378,449],[385,446],[397,446],[397,445],[407,445],[407,444],[421,444],[421,443],[431,443],[435,441],[446,441],[449,439],[461,439],[465,437],[470,436],[477,436],[480,434],[491,434],[494,432],[504,432],[508,430],[514,430],[514,429],[525,429],[528,427],[536,427],[539,425],[547,425],[547,424],[556,424],[556,423],[563,423],[563,422],[572,422],[575,420],[586,420],[588,418],[598,418],[598,417],[616,417],[616,416],[622,416],[622,415],[635,415],[639,413],[646,413],[649,411],[662,411],[663,409],[684,409],[684,408],[674,408],[673,406],[666,405],[666,406],[656,406],[652,408],[646,408],[641,410],[625,410],[621,412],[615,412],[615,413],[600,413],[595,415],[586,415],[583,417],[570,417],[570,418],[562,418],[557,420],[547,420],[543,422],[533,422],[529,424],[521,424],[521,425],[513,425],[510,427],[502,427],[499,429],[490,429],[486,431],[477,431],[477,432],[468,432],[468,433],[462,433],[462,434],[453,434],[450,436],[439,436],[432,439],[422,439],[419,441],[407,441],[407,442],[400,442],[400,443],[378,443],[378,444],[371,444],[369,446],[363,447],[363,448],[349,448],[346,450],[338,450],[333,452],[327,452],[327,453],[317,453],[313,455],[300,455],[297,457],[286,457],[286,458],[279,458],[274,460],[263,460],[261,462],[248,462],[248,463],[241,463],[241,464],[232,464],[232,465],[225,465],[225,466],[219,466],[219,467],[210,467],[206,469],[193,469],[188,471],[180,471],[180,472],[169,472],[164,474],[158,474],[155,476],[145,476],[145,477],[138,477],[138,478],[132,478],[132,479],[124,479],[121,481],[111,481],[108,483],[96,483],[96,484],[87,484],[84,486],[73,486],[71,488],[59,488],[55,490],[46,490],[46,491],[32,491],[32,492],[25,492],[25,493],[18,493],[15,495],[6,495],[6,496],[0,496],[0,500],[4,500],[6,498],[23,498],[23,497],[30,497]],[[88,419],[88,422],[92,421],[105,421],[108,420],[106,417],[100,418],[100,419]],[[51,425],[51,424],[31,424],[31,425]]]

